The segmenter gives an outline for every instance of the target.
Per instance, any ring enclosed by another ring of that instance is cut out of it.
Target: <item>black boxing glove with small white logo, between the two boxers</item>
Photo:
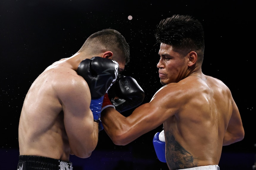
[[[134,78],[119,75],[116,83],[108,90],[108,96],[116,110],[121,113],[140,105],[145,93]]]

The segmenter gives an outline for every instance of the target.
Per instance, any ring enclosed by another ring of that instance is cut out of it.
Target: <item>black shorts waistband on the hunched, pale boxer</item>
[[[72,170],[72,163],[42,156],[20,155],[17,170]]]

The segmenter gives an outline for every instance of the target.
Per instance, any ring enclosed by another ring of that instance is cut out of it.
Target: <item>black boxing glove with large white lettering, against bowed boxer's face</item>
[[[84,59],[78,65],[77,73],[89,85],[91,98],[96,99],[104,96],[116,82],[119,65],[115,60],[92,57],[91,59]]]

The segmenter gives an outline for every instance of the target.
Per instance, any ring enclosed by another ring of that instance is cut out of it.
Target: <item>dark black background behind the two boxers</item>
[[[75,54],[96,31],[113,28],[124,35],[130,45],[131,60],[123,74],[138,81],[146,93],[143,103],[149,102],[162,87],[156,67],[159,46],[155,45],[154,29],[161,19],[172,14],[189,14],[202,22],[203,73],[222,80],[230,88],[241,113],[245,138],[223,147],[221,169],[252,169],[255,43],[251,41],[255,37],[255,18],[250,14],[251,7],[245,1],[2,0],[0,158],[7,164],[4,169],[17,167],[18,122],[31,83],[53,62]],[[129,15],[132,20],[128,20]],[[161,130],[160,126],[126,146],[114,145],[101,131],[90,158],[72,156],[71,160],[76,169],[85,169],[85,164],[86,169],[167,169],[165,163],[157,160],[152,144],[154,134]]]

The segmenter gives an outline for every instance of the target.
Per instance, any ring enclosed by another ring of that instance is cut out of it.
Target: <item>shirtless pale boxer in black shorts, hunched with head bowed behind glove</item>
[[[70,154],[88,158],[102,129],[103,95],[128,61],[124,37],[105,29],[87,38],[73,56],[47,67],[23,103],[18,169],[72,170]]]

